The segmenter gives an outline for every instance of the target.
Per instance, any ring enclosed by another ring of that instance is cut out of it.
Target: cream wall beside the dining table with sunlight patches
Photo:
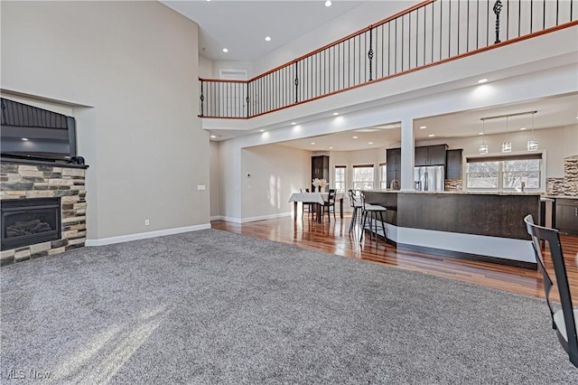
[[[309,151],[256,146],[243,149],[241,160],[243,221],[290,214],[294,206],[288,202],[291,193],[311,185]]]

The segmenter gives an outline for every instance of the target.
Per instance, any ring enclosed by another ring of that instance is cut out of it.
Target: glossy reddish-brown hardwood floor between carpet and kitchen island
[[[396,249],[384,241],[370,240],[367,236],[364,237],[363,243],[359,244],[359,235],[349,233],[350,217],[347,214],[342,220],[339,217],[337,221],[331,219],[330,223],[326,219],[318,223],[306,217],[303,221],[301,219],[294,221],[293,218],[284,217],[244,224],[212,221],[211,226],[213,229],[274,240],[303,249],[324,251],[521,295],[544,298],[542,277],[537,271]],[[564,235],[562,245],[572,296],[578,298],[578,237]],[[545,254],[546,268],[550,276],[554,277],[554,269],[547,252]],[[553,296],[553,299],[555,298],[557,298],[557,293]]]

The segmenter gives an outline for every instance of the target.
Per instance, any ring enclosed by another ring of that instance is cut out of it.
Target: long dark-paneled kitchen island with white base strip
[[[536,221],[540,194],[527,192],[365,192],[387,208],[387,239],[400,249],[536,269],[524,217]]]

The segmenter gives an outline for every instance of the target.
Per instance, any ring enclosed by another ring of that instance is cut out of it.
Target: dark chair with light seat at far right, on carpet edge
[[[527,215],[524,221],[526,222],[527,233],[532,237],[532,247],[538,270],[544,278],[545,299],[552,318],[552,328],[555,329],[558,341],[568,354],[570,362],[578,368],[578,327],[576,325],[578,308],[573,306],[572,295],[570,294],[568,275],[564,265],[564,254],[560,244],[560,233],[558,230],[534,224],[532,215]],[[550,290],[554,286],[554,282],[545,269],[544,258],[542,257],[542,241],[545,241],[545,244],[548,245],[554,265],[555,285],[558,286],[561,303],[561,306],[556,306],[560,307],[557,309],[555,309],[550,300]]]

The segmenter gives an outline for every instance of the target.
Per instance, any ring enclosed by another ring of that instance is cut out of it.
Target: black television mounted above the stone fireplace
[[[75,162],[74,117],[2,98],[3,157]]]

